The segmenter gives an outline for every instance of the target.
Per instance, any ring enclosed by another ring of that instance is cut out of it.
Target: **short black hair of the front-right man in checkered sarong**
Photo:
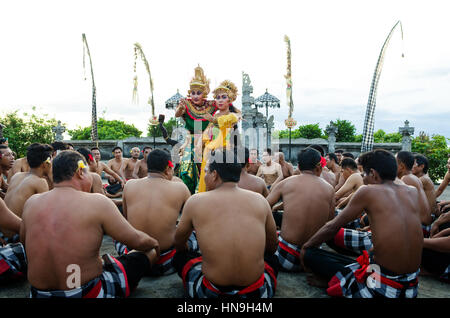
[[[390,151],[377,149],[363,153],[359,156],[358,162],[367,174],[370,169],[373,169],[378,172],[383,180],[394,181],[397,177],[397,160]]]

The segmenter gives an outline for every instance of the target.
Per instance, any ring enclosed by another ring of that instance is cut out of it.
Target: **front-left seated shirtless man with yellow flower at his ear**
[[[133,228],[103,195],[88,193],[92,176],[83,157],[53,159],[53,190],[25,203],[20,228],[31,297],[127,297],[159,257],[158,241]],[[103,236],[138,251],[99,256]]]

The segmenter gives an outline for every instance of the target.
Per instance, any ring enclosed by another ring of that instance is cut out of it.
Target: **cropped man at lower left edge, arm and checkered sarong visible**
[[[0,199],[0,227],[6,231],[19,233],[22,220]],[[24,279],[27,273],[25,249],[21,243],[4,245],[0,238],[0,286]]]

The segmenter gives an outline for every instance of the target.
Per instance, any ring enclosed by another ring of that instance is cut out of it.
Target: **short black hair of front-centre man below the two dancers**
[[[223,182],[239,182],[242,171],[242,160],[239,160],[238,153],[237,149],[228,149],[225,151],[216,149],[211,151],[208,166],[209,171],[217,171]]]

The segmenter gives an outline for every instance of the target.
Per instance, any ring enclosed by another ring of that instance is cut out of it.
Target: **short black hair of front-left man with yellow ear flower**
[[[54,159],[52,163],[53,182],[60,183],[63,181],[71,180],[78,170],[78,162],[83,161],[86,165],[86,161],[83,156],[74,150],[61,151]]]

